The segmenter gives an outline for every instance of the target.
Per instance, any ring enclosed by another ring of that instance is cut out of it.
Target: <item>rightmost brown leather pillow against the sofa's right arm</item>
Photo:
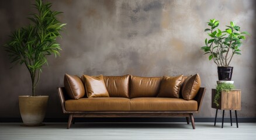
[[[201,85],[198,74],[186,78],[182,85],[181,93],[185,100],[192,100],[198,94]]]

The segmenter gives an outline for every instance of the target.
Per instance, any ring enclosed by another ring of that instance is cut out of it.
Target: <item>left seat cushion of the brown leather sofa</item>
[[[81,98],[65,101],[67,111],[130,111],[130,99],[121,97]]]

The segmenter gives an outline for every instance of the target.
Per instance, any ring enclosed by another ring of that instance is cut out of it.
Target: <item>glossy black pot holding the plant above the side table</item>
[[[233,67],[218,67],[219,81],[231,81]]]

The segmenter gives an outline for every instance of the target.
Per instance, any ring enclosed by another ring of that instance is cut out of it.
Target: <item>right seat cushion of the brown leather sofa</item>
[[[133,98],[131,111],[196,111],[198,102],[179,98],[140,97]]]

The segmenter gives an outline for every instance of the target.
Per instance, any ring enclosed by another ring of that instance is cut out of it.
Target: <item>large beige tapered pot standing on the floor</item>
[[[19,96],[19,110],[22,117],[22,126],[43,125],[49,96]]]

